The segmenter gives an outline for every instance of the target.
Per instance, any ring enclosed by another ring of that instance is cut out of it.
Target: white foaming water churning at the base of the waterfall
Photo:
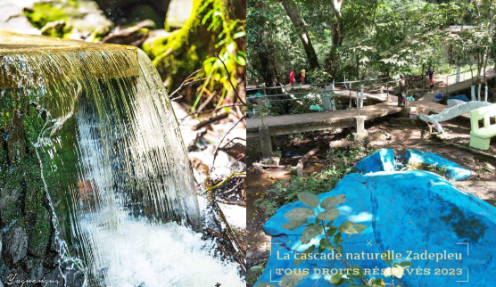
[[[106,274],[109,286],[119,287],[244,287],[236,263],[216,258],[214,242],[175,223],[151,225],[120,212],[120,229],[103,229],[101,237],[112,238],[103,246],[104,258],[112,259]],[[90,225],[83,228],[91,229]]]

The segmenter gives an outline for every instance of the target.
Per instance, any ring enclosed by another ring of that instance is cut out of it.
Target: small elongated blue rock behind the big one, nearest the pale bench
[[[408,150],[405,153],[405,160],[408,164],[425,164],[425,165],[435,165],[440,170],[446,170],[444,176],[452,180],[462,180],[472,176],[472,171],[467,168],[462,168],[459,164],[446,160],[439,155],[432,152],[422,152],[417,150]]]

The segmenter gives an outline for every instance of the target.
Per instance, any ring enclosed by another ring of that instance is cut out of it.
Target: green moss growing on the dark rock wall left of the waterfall
[[[10,94],[9,101],[13,102],[8,107],[12,108],[13,105],[19,117],[5,120],[5,131],[0,132],[0,186],[3,187],[0,197],[4,200],[4,208],[0,210],[2,227],[14,220],[16,225],[25,227],[29,234],[29,253],[42,257],[50,240],[52,226],[48,217],[49,206],[41,168],[33,143],[37,142],[45,120],[29,104],[28,97],[22,97],[22,93],[6,93],[6,90],[1,92]],[[19,120],[21,123],[18,123]],[[7,135],[10,143],[5,144],[4,138]],[[5,146],[8,147],[7,150]],[[8,157],[7,154],[15,156]]]

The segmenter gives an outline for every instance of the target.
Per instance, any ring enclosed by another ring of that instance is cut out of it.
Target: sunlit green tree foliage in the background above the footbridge
[[[257,35],[265,31],[277,61],[277,77],[287,83],[287,74],[294,67],[308,67],[308,61],[297,29],[277,1],[266,1],[267,9],[256,9],[258,1],[248,1],[248,66],[260,71],[264,62],[258,59],[262,48]],[[476,61],[480,69],[489,52],[496,52],[492,43],[494,1],[425,1],[377,0],[343,1],[341,18],[343,43],[333,46],[336,20],[328,1],[295,0],[302,14],[321,67],[330,50],[335,53],[335,71],[308,70],[309,82],[326,82],[329,78],[360,79],[400,73],[423,73],[427,66],[442,66]],[[268,19],[267,22],[256,21]],[[253,21],[251,21],[253,20]],[[450,26],[465,25],[450,33]],[[330,49],[330,47],[332,49]],[[327,72],[327,74],[326,74]],[[249,81],[256,81],[249,78]]]

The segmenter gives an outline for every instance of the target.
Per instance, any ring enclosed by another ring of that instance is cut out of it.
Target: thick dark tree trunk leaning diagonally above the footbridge
[[[307,53],[310,69],[318,68],[317,53],[315,53],[315,49],[313,48],[313,45],[311,45],[310,35],[307,31],[305,23],[303,22],[302,15],[296,9],[296,5],[293,0],[281,0],[281,3],[285,7],[285,12],[289,16],[289,19],[293,22],[293,26],[298,33],[298,37],[300,37],[300,40],[302,41],[305,53]]]

